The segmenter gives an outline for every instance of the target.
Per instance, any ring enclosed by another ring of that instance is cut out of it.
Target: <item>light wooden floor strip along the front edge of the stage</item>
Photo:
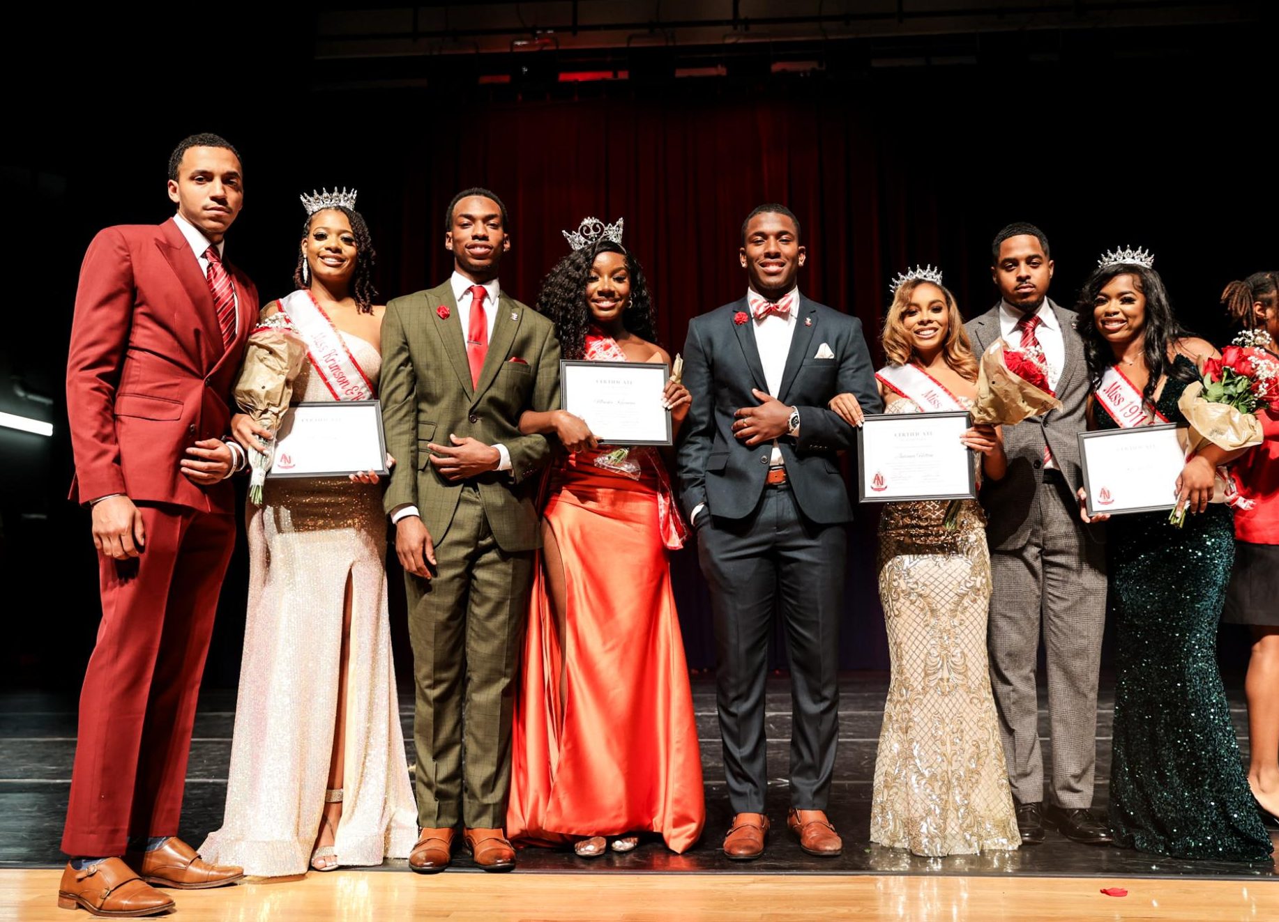
[[[1108,896],[1101,887],[1124,887]],[[0,919],[90,919],[55,904],[58,872],[0,871]],[[781,875],[481,875],[335,871],[280,884],[174,891],[182,922],[986,922],[1279,918],[1273,881]],[[166,917],[162,917],[166,918]]]

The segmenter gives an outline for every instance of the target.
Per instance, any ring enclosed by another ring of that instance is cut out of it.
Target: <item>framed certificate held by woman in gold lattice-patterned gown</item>
[[[857,430],[857,500],[964,500],[977,496],[972,451],[959,436],[969,416],[881,413]]]

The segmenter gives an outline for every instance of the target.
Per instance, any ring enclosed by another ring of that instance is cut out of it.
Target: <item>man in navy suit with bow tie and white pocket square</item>
[[[790,811],[801,847],[838,856],[826,818],[839,731],[839,620],[852,504],[836,453],[853,427],[828,409],[852,393],[881,408],[856,317],[808,301],[799,221],[761,205],[742,225],[746,297],[693,318],[679,446],[680,497],[697,529],[718,648],[718,702],[733,824],[729,858],[764,853],[764,701],[774,602],[787,628],[793,729]]]

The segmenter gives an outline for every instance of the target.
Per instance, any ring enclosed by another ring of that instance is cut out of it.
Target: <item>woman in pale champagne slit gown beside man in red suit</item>
[[[298,290],[262,309],[306,341],[294,402],[376,396],[382,308],[371,266],[358,212],[311,214]],[[233,426],[249,450],[269,435],[246,416]],[[275,877],[381,864],[417,838],[377,480],[267,480],[262,505],[248,506],[244,657],[223,827],[200,849],[210,861]]]

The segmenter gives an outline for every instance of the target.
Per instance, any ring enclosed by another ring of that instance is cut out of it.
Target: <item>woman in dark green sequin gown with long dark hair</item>
[[[1094,382],[1118,362],[1145,389],[1147,405],[1186,425],[1177,400],[1216,350],[1177,326],[1154,270],[1102,266],[1085,283],[1077,309]],[[1100,404],[1092,413],[1097,428],[1118,427]],[[1110,827],[1117,845],[1142,852],[1267,861],[1270,838],[1252,804],[1216,666],[1234,560],[1232,510],[1207,505],[1202,492],[1204,477],[1211,490],[1211,463],[1225,459],[1214,457],[1219,451],[1205,449],[1207,460],[1188,463],[1182,474],[1192,509],[1184,527],[1161,512],[1117,515],[1108,526],[1118,619]]]

